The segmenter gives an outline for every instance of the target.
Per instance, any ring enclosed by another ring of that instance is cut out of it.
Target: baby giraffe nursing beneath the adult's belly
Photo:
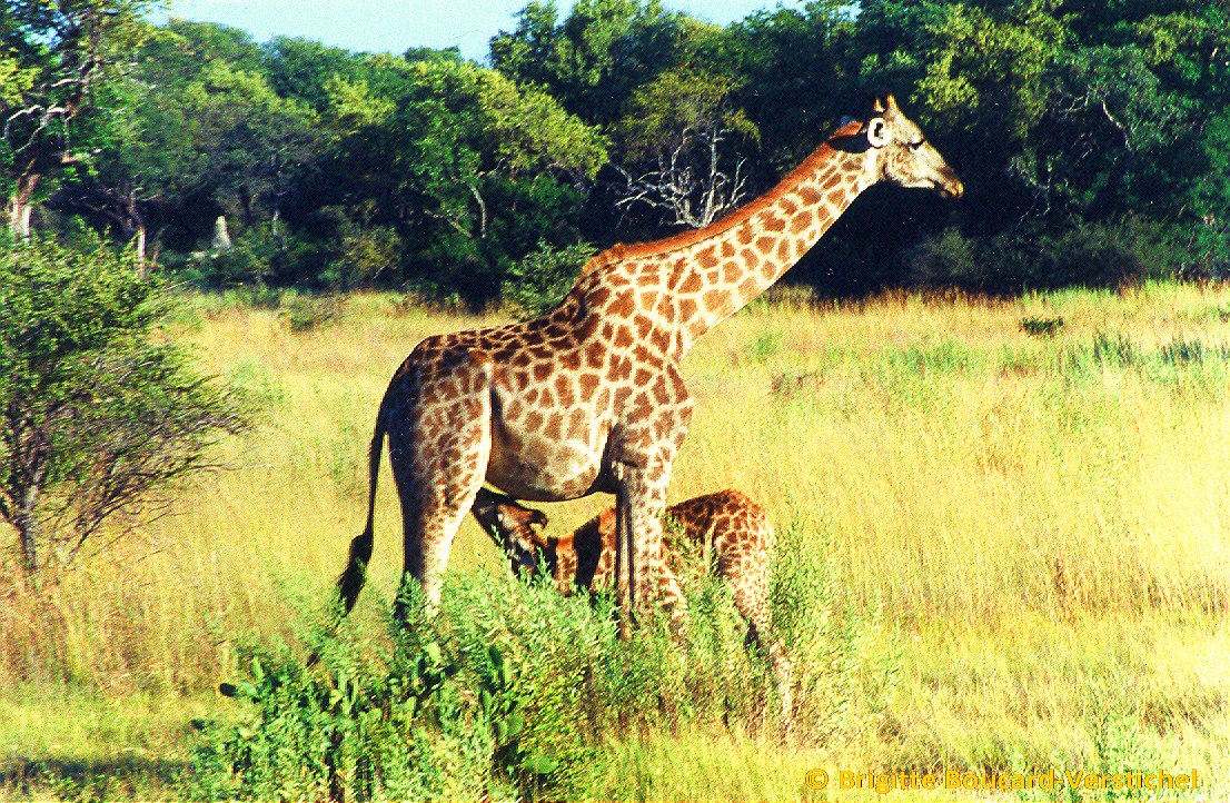
[[[523,507],[515,499],[482,488],[471,508],[475,518],[504,550],[517,573],[540,568],[555,580],[565,596],[573,588],[606,587],[615,571],[615,508],[581,525],[572,535],[546,536],[541,510]],[[769,621],[769,560],[772,528],[764,509],[739,491],[718,491],[667,509],[672,523],[699,545],[713,573],[731,587],[734,606],[748,622],[748,637],[760,644],[772,662],[782,713],[791,711],[791,664]],[[541,556],[541,566],[539,563]],[[667,555],[667,564],[676,562]],[[683,595],[670,569],[659,577],[663,604],[681,611]]]

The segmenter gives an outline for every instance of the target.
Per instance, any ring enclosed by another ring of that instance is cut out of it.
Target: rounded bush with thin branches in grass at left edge
[[[132,259],[31,241],[0,253],[0,519],[33,578],[247,425],[240,401],[159,337],[167,307]],[[123,531],[121,529],[121,531]]]

